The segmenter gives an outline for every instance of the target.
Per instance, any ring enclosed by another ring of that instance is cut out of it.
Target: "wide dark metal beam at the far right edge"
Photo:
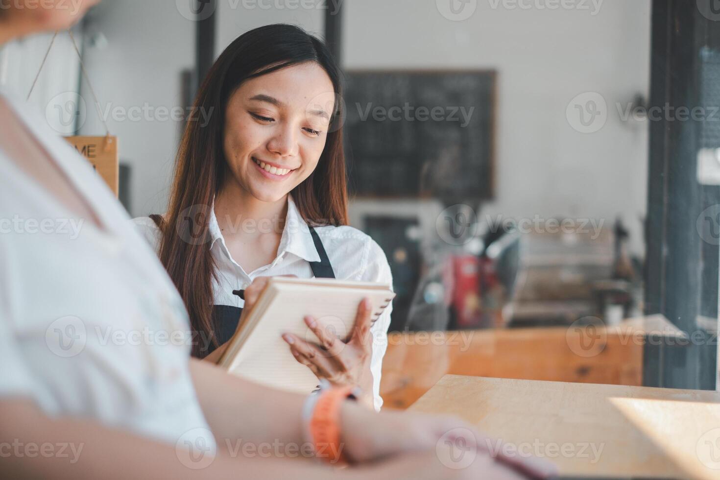
[[[698,319],[718,314],[720,247],[703,235],[698,219],[720,204],[720,187],[698,182],[706,119],[681,121],[672,113],[678,107],[709,112],[705,102],[720,82],[720,76],[706,81],[711,32],[720,32],[720,22],[701,14],[695,1],[653,1],[649,112],[662,113],[649,118],[645,311],[665,314],[690,341],[646,345],[643,382],[649,386],[715,389],[717,346]]]

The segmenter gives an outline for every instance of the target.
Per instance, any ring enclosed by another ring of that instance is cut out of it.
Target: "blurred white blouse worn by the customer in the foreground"
[[[22,100],[3,98],[104,229],[69,211],[0,144],[0,397],[214,449],[171,279],[89,162]]]

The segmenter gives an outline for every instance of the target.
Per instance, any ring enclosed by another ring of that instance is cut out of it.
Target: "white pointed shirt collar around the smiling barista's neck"
[[[215,202],[210,208],[208,232],[210,233],[210,248],[219,240],[222,248],[228,250],[227,245],[225,245],[225,238],[222,237],[222,232],[220,232],[220,225],[217,224],[217,217],[215,217]],[[291,195],[287,196],[287,217],[285,217],[285,227],[277,251],[278,256],[287,252],[297,255],[308,262],[320,261],[320,255],[318,249],[315,248],[315,242],[312,240],[310,228],[297,210]]]

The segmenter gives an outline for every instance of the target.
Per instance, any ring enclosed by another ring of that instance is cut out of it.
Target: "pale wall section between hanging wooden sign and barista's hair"
[[[183,107],[180,75],[194,68],[195,22],[183,17],[174,1],[112,0],[96,7],[89,30],[107,38],[107,46],[85,53],[103,109],[150,112],[141,113],[139,121],[108,119],[110,132],[119,137],[120,161],[132,166],[131,213],[165,212],[182,122],[166,119],[158,109]],[[81,95],[90,105],[85,83]],[[81,132],[104,133],[95,112]]]

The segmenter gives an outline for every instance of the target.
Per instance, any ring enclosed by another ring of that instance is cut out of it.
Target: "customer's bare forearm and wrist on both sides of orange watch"
[[[220,448],[237,438],[297,445],[307,441],[302,423],[307,397],[253,384],[206,361],[193,359],[190,371],[200,407]],[[437,440],[454,426],[454,420],[446,418],[377,414],[349,400],[341,407],[343,451],[359,462],[435,448]]]

